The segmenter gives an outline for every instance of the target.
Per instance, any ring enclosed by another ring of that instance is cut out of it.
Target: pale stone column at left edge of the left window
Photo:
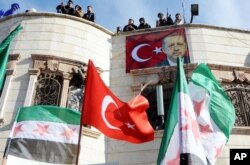
[[[39,74],[40,74],[39,69],[29,69],[30,80],[24,101],[24,106],[30,106],[32,104],[32,98],[35,90],[35,85],[37,82],[37,76]]]

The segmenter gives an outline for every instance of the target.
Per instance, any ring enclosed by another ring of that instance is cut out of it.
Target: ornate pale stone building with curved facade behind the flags
[[[88,59],[98,67],[105,83],[123,101],[139,93],[141,84],[150,101],[148,118],[155,140],[129,144],[83,128],[80,164],[154,165],[163,130],[156,110],[156,85],[163,85],[168,106],[175,67],[155,67],[126,73],[126,37],[161,32],[172,27],[114,34],[86,20],[53,13],[24,13],[0,20],[0,41],[18,24],[23,30],[11,44],[3,91],[0,94],[0,155],[18,107],[50,104],[81,110]],[[216,164],[229,164],[230,148],[250,148],[250,31],[207,25],[185,28],[191,63],[189,78],[197,63],[208,63],[230,95],[237,120],[228,144]],[[0,158],[2,161],[2,158]]]

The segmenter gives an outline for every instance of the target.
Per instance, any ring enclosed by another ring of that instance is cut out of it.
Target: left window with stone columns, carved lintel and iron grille
[[[32,55],[32,59],[25,106],[56,105],[80,111],[87,65],[48,55]]]

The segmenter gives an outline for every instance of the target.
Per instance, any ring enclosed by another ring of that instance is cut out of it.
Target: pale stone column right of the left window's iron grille
[[[66,107],[68,91],[69,91],[69,82],[72,79],[73,75],[68,73],[63,73],[63,88],[61,94],[60,107]]]

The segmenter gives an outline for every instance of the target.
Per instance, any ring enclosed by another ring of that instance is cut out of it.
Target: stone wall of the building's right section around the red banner
[[[183,25],[189,46],[191,63],[205,62],[218,66],[250,66],[250,31],[227,29],[205,25]],[[171,27],[170,27],[171,28]],[[173,28],[173,27],[172,27]],[[112,58],[110,72],[111,90],[122,100],[128,101],[141,83],[158,79],[151,69],[144,74],[126,73],[126,36],[161,31],[164,28],[140,32],[121,33],[112,38]],[[159,69],[155,69],[158,72]],[[217,76],[219,79],[220,75]],[[241,130],[241,131],[236,131]],[[250,128],[234,128],[234,131],[220,155],[217,165],[229,164],[230,148],[250,148]],[[107,146],[108,162],[120,165],[155,165],[163,131],[156,131],[155,140],[145,144],[129,144],[109,139]]]

